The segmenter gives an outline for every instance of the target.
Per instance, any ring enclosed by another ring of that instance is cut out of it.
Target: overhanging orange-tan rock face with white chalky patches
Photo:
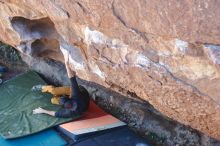
[[[27,62],[69,55],[80,78],[138,96],[220,139],[219,7],[206,0],[0,0],[0,40]]]

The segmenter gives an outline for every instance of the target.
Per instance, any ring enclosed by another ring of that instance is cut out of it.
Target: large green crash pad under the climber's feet
[[[0,135],[5,139],[30,135],[44,129],[79,118],[56,118],[45,114],[33,114],[42,107],[58,110],[52,105],[49,93],[31,91],[34,85],[46,84],[35,72],[27,72],[0,85]]]

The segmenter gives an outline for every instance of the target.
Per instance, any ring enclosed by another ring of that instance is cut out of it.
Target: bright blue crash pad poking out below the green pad
[[[65,146],[66,142],[53,129],[29,136],[5,140],[0,137],[0,146]]]

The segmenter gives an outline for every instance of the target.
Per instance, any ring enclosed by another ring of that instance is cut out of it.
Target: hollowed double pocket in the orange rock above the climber
[[[11,25],[19,34],[21,43],[17,48],[24,54],[33,57],[47,57],[49,53],[59,50],[59,34],[49,17],[29,20],[24,17],[13,17]]]

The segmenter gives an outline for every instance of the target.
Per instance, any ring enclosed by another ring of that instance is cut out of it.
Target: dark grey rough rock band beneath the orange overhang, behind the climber
[[[50,84],[57,86],[70,84],[62,63],[51,59],[35,59],[27,56],[23,58]],[[60,76],[61,74],[63,76]],[[126,122],[130,128],[146,138],[152,145],[218,146],[220,144],[218,140],[171,120],[149,103],[132,94],[123,96],[109,88],[79,78],[78,83],[86,87],[91,97],[102,109]]]

